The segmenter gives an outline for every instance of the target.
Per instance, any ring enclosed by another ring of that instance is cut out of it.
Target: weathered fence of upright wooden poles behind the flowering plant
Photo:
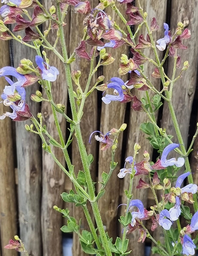
[[[54,1],[43,0],[43,2],[47,7],[51,6]],[[185,26],[191,31],[190,40],[185,42],[188,50],[178,51],[181,55],[181,63],[188,60],[190,67],[182,79],[178,80],[177,85],[175,85],[173,98],[178,123],[183,138],[185,138],[185,145],[187,145],[188,138],[192,137],[198,122],[198,91],[196,87],[198,70],[198,0],[140,0],[140,2],[144,10],[148,12],[148,20],[151,21],[153,17],[156,17],[158,21],[160,30],[156,32],[156,39],[163,36],[163,22],[165,21],[170,25],[171,31],[174,31],[177,27],[178,21],[184,22]],[[96,0],[91,0],[92,7],[96,4]],[[118,4],[118,6],[119,10],[124,12],[124,5]],[[112,15],[113,20],[117,20],[115,13],[112,14],[110,9],[107,9],[107,12]],[[82,21],[82,15],[74,12],[72,8],[69,9],[65,36],[70,53],[80,42],[83,32]],[[141,33],[145,34],[143,30]],[[55,39],[56,31],[51,35],[50,41],[54,42]],[[58,50],[60,51],[60,47],[58,47]],[[126,46],[120,47],[116,51],[114,49],[109,51],[115,58],[114,63],[110,67],[104,66],[102,70],[98,71],[98,75],[103,74],[105,76],[105,81],[108,81],[113,76],[117,76],[120,54],[129,53],[129,49]],[[150,50],[147,51],[147,54],[149,53],[151,53]],[[20,59],[29,58],[33,61],[35,55],[36,53],[31,49],[27,49],[19,43],[12,42],[9,47],[9,42],[0,41],[0,68],[6,65],[17,67],[20,64]],[[48,53],[48,57],[50,65],[58,67],[60,74],[64,74],[63,66],[54,54]],[[167,65],[168,74],[171,74],[172,65],[173,63],[170,59]],[[88,78],[86,72],[88,67],[89,62],[79,59],[78,56],[75,64],[72,64],[72,69],[81,70],[83,74],[81,82],[84,85]],[[148,77],[151,77],[153,72],[152,64],[146,64],[144,69]],[[56,82],[53,83],[54,101],[67,106],[67,91],[64,81],[64,75],[59,75]],[[158,79],[153,78],[152,82],[159,88],[160,81]],[[1,78],[1,92],[4,86],[5,80]],[[30,101],[30,94],[35,93],[37,88],[39,88],[39,85],[27,88],[27,100],[31,112],[34,114],[42,112],[49,133],[56,137],[57,134],[55,133],[49,104],[46,102],[35,104]],[[138,92],[139,97],[142,95],[142,92]],[[0,114],[3,111],[6,110],[3,104],[0,104]],[[166,127],[168,134],[175,135],[166,104],[163,106],[163,112],[159,115],[158,120],[161,123],[161,127]],[[146,139],[147,136],[139,130],[140,123],[146,120],[146,115],[132,110],[130,104],[120,104],[119,102],[112,102],[110,105],[103,104],[101,102],[101,94],[97,92],[94,92],[89,97],[85,106],[81,128],[88,153],[94,155],[91,174],[95,181],[100,181],[101,173],[109,170],[111,157],[108,150],[105,152],[99,150],[99,144],[96,141],[92,141],[91,145],[88,144],[90,133],[94,130],[100,130],[105,133],[113,127],[119,128],[123,122],[128,122],[128,129],[119,138],[119,148],[115,158],[119,165],[106,187],[106,196],[99,200],[103,223],[109,231],[109,235],[113,238],[120,234],[118,218],[121,210],[118,210],[117,206],[124,202],[123,191],[129,183],[127,177],[121,180],[117,177],[117,173],[123,167],[125,157],[131,155],[135,142],[139,142],[141,145],[138,160],[141,160],[141,155],[145,149],[152,156],[152,149]],[[60,194],[63,191],[69,191],[71,184],[48,153],[42,151],[40,139],[24,129],[25,123],[29,122],[15,123],[9,118],[0,121],[0,256],[17,255],[15,251],[3,248],[4,245],[8,244],[9,239],[13,238],[13,235],[16,234],[20,236],[31,256],[61,256],[62,234],[60,227],[63,224],[63,219],[60,213],[53,210],[53,205],[69,207],[77,219],[81,218],[82,228],[88,228],[88,226],[79,208],[73,209],[71,205],[63,205]],[[59,117],[59,123],[62,130],[65,131],[64,136],[67,136],[66,122],[61,116]],[[195,181],[198,183],[198,172],[196,171],[198,140],[195,142],[194,149],[191,155],[191,166]],[[53,150],[56,151],[58,159],[65,165],[61,152],[56,148]],[[75,170],[82,170],[75,138],[70,153]],[[135,183],[137,181],[135,180]],[[144,190],[134,189],[133,196],[142,200],[145,206],[150,206],[152,203],[149,195],[145,195]],[[160,229],[156,231],[155,236],[161,236]],[[129,235],[129,239],[129,247],[133,250],[131,255],[143,256],[144,244],[137,243],[138,233],[132,233]],[[75,235],[73,248],[74,256],[84,255]]]

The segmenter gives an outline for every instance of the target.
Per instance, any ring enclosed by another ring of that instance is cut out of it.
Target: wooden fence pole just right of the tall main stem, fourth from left
[[[91,8],[93,9],[97,5],[96,0],[90,1]],[[71,7],[71,20],[70,20],[70,44],[69,44],[69,53],[72,54],[76,47],[79,46],[79,43],[83,37],[83,20],[86,15],[82,15],[78,12],[73,12]],[[73,29],[75,28],[76,24],[78,24],[78,30],[74,33]],[[90,51],[90,47],[88,47],[88,52]],[[87,84],[88,76],[89,76],[89,68],[90,68],[90,61],[80,58],[78,55],[75,56],[76,61],[71,64],[71,70],[80,70],[80,86],[84,91],[85,86]],[[93,76],[90,87],[93,86],[96,82],[96,75]],[[76,91],[77,86],[74,85],[74,90]],[[82,132],[82,138],[87,149],[88,154],[92,154],[94,157],[94,162],[90,166],[91,177],[93,181],[96,181],[96,141],[92,140],[91,145],[89,144],[89,136],[92,131],[97,130],[97,92],[96,90],[89,95],[86,99],[85,106],[83,109],[83,117],[80,120],[80,128]],[[75,165],[75,173],[79,172],[79,170],[83,170],[82,163],[80,160],[79,149],[77,145],[77,141],[74,137],[72,143],[72,160],[73,164]],[[89,226],[86,220],[86,217],[83,213],[81,207],[76,207],[74,204],[73,206],[73,216],[79,222],[80,220],[80,231],[83,229],[89,230]],[[89,213],[93,217],[91,207],[89,206]],[[85,256],[86,254],[82,251],[80,243],[79,243],[79,236],[73,234],[73,256]]]

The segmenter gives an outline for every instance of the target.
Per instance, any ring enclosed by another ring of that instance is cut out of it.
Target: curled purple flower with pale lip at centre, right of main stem
[[[111,101],[123,101],[124,93],[122,85],[125,85],[125,83],[119,77],[112,77],[110,81],[111,83],[109,83],[107,87],[113,88],[115,95],[106,94],[105,97],[102,97],[102,101],[105,104],[109,104]]]

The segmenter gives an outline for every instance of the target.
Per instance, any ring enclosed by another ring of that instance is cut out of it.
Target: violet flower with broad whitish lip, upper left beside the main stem
[[[59,71],[56,67],[49,66],[43,61],[43,58],[37,55],[35,57],[36,64],[40,68],[41,76],[43,80],[54,82],[59,75]]]

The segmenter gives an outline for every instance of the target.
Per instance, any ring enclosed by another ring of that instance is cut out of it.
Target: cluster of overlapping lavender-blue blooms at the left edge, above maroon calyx
[[[14,76],[18,81],[14,83],[7,75]],[[13,112],[3,113],[0,119],[4,119],[5,117],[15,119],[17,112],[25,109],[26,92],[22,85],[26,82],[26,78],[24,75],[19,74],[15,68],[9,66],[0,69],[0,77],[1,76],[4,76],[6,81],[10,84],[5,86],[1,98],[3,99],[3,104],[7,107],[11,107]]]

